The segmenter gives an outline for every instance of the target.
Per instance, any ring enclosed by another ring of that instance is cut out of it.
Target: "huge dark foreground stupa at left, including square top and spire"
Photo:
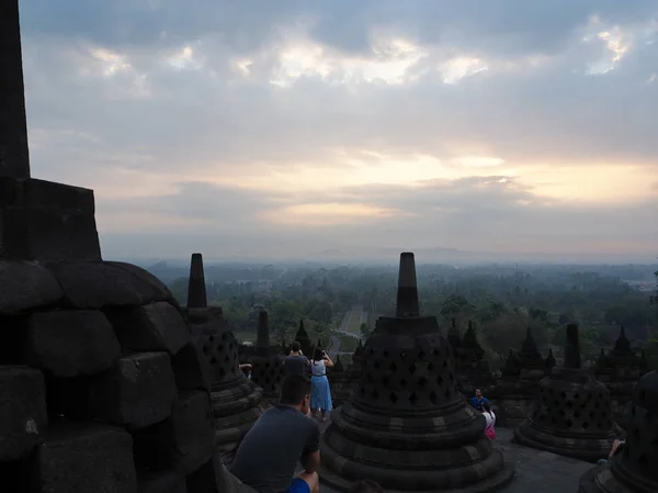
[[[0,3],[0,491],[217,492],[191,330],[104,261],[93,191],[30,177],[18,0]]]

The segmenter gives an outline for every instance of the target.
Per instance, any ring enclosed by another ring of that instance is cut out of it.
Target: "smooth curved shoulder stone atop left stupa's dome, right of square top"
[[[125,266],[87,261],[52,264],[48,267],[64,290],[65,301],[76,309],[138,306],[161,301],[152,282],[135,276]]]

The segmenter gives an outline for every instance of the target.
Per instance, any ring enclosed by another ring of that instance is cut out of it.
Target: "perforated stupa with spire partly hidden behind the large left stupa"
[[[192,254],[190,264],[188,321],[209,365],[215,442],[219,450],[229,450],[263,413],[263,392],[239,369],[238,343],[222,309],[207,306],[201,254]]]

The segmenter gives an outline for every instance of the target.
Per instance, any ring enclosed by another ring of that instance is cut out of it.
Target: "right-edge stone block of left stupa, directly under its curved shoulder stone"
[[[125,350],[175,355],[191,338],[180,312],[164,301],[106,313]]]

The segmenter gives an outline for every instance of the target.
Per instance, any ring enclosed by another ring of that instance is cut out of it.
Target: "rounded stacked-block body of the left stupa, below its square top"
[[[148,272],[0,261],[2,491],[218,491],[205,365]]]

